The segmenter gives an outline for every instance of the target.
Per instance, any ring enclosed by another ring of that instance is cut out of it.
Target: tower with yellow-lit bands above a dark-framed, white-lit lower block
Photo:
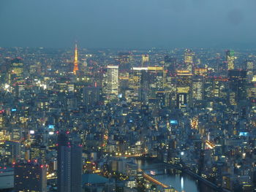
[[[191,104],[192,74],[189,71],[177,70],[176,76],[176,104],[178,108]]]

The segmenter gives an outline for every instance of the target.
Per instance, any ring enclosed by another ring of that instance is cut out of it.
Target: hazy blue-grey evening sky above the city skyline
[[[256,47],[255,0],[0,0],[0,47]]]

